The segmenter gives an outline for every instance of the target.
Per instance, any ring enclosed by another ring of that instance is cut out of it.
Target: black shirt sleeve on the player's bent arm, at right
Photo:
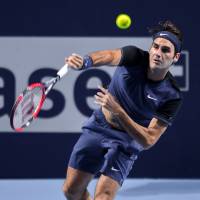
[[[182,99],[169,100],[156,111],[154,117],[171,126],[181,105]]]

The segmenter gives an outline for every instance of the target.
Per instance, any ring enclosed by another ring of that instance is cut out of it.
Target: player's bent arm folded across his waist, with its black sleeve
[[[100,87],[100,90],[101,92],[98,92],[95,96],[96,102],[104,109],[110,111],[112,117],[115,118],[115,122],[117,121],[123,130],[135,138],[146,149],[153,146],[166,131],[170,121],[164,119],[171,118],[171,114],[169,113],[172,113],[171,110],[175,110],[175,106],[177,107],[178,105],[173,103],[174,107],[172,105],[164,106],[162,111],[158,110],[149,126],[144,127],[133,121],[107,90],[102,87]]]

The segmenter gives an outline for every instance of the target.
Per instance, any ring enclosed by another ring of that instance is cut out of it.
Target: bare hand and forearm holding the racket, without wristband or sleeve
[[[88,54],[91,59],[92,66],[116,66],[120,63],[122,57],[121,49],[113,49],[113,50],[103,50],[96,51]],[[65,63],[68,63],[69,66],[75,69],[82,69],[84,63],[84,57],[78,54],[72,54],[69,57],[65,58]]]

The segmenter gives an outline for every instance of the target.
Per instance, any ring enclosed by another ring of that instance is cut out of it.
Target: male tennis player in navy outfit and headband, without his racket
[[[100,109],[82,127],[63,185],[69,200],[91,199],[87,186],[100,177],[95,200],[114,199],[138,154],[152,147],[171,125],[182,97],[169,69],[180,57],[182,33],[169,20],[149,30],[149,52],[135,46],[65,59],[72,68],[117,66],[108,89],[99,87]]]

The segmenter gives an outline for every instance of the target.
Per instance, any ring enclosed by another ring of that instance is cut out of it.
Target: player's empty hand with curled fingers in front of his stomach
[[[112,114],[119,114],[122,111],[122,107],[119,105],[117,100],[108,92],[107,89],[103,88],[102,86],[98,87],[100,92],[97,92],[95,97],[95,103],[106,108]]]

